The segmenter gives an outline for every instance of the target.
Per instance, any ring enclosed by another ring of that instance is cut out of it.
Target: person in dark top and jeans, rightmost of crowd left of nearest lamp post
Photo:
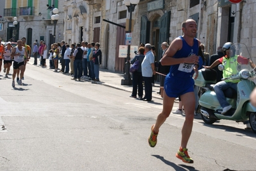
[[[101,65],[101,58],[102,58],[102,53],[101,49],[99,49],[100,44],[96,43],[95,44],[95,54],[92,54],[93,57],[93,62],[94,62],[94,75],[95,79],[93,81],[99,81],[99,65]]]

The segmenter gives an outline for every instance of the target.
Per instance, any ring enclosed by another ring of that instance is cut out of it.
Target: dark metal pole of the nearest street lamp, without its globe
[[[131,33],[132,32],[133,4],[130,4],[130,6],[128,6],[128,11],[130,12],[128,33]],[[130,59],[131,59],[130,58],[130,49],[131,49],[131,45],[128,45],[126,63],[125,63],[125,68],[124,68],[125,69],[124,79],[121,80],[121,85],[132,85],[132,79],[131,79],[131,75],[130,75]]]

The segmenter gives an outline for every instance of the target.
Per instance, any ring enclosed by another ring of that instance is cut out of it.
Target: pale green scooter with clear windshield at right
[[[250,103],[250,94],[255,88],[253,78],[255,75],[255,65],[248,53],[245,44],[234,44],[230,47],[230,59],[228,62],[236,62],[236,74],[225,69],[224,65],[219,65],[219,70],[227,70],[228,77],[224,80],[237,80],[237,91],[228,88],[224,91],[226,101],[232,105],[225,115],[221,114],[222,108],[214,92],[217,73],[213,69],[201,69],[198,71],[198,78],[194,80],[196,86],[201,87],[201,97],[199,100],[199,110],[201,118],[206,124],[213,124],[216,120],[226,119],[235,122],[243,122],[252,127],[253,133],[256,133],[256,108]],[[232,57],[233,56],[233,57]],[[243,56],[246,56],[244,58]],[[253,68],[254,67],[254,68]]]

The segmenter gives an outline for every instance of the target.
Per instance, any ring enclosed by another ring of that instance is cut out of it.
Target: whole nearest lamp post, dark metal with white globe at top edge
[[[128,33],[132,32],[132,12],[134,12],[135,6],[139,3],[139,1],[140,0],[124,0],[124,4],[128,8],[128,12],[130,12]],[[132,79],[130,75],[130,49],[131,46],[128,45],[126,63],[124,68],[125,73],[124,78],[121,80],[121,85],[132,85]]]

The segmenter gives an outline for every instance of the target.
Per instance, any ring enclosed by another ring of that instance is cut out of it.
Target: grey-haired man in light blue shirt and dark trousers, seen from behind
[[[151,45],[146,44],[145,47],[145,58],[141,64],[142,76],[144,79],[145,96],[142,98],[143,101],[152,100],[152,76],[155,75],[155,56],[151,51]]]

